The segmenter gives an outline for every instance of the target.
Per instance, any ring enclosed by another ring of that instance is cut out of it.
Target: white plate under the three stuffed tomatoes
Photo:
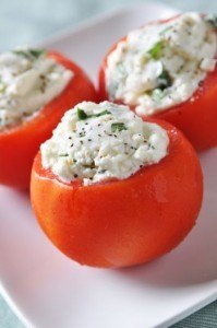
[[[156,3],[122,9],[46,43],[96,80],[110,45],[130,28],[174,11]],[[0,284],[27,327],[148,328],[217,298],[217,149],[201,156],[205,198],[198,223],[169,255],[124,270],[81,267],[45,237],[27,195],[0,188]]]

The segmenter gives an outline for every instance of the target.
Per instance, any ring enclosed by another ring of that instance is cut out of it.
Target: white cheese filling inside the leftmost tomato
[[[0,55],[0,130],[31,119],[57,97],[73,72],[40,49]]]

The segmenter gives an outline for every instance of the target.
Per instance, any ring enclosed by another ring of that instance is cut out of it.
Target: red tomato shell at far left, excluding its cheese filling
[[[39,145],[51,137],[65,110],[82,101],[97,99],[93,83],[71,60],[58,52],[49,52],[49,57],[74,72],[64,91],[46,104],[38,115],[27,122],[0,132],[0,184],[27,188],[31,169]]]

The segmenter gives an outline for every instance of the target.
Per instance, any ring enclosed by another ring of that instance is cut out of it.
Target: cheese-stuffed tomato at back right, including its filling
[[[216,27],[184,13],[129,33],[104,60],[100,98],[171,122],[197,150],[217,145]]]

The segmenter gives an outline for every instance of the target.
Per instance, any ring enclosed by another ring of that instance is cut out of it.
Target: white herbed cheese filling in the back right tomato
[[[108,56],[106,87],[138,115],[152,115],[188,101],[215,70],[215,21],[185,13],[131,32]]]

